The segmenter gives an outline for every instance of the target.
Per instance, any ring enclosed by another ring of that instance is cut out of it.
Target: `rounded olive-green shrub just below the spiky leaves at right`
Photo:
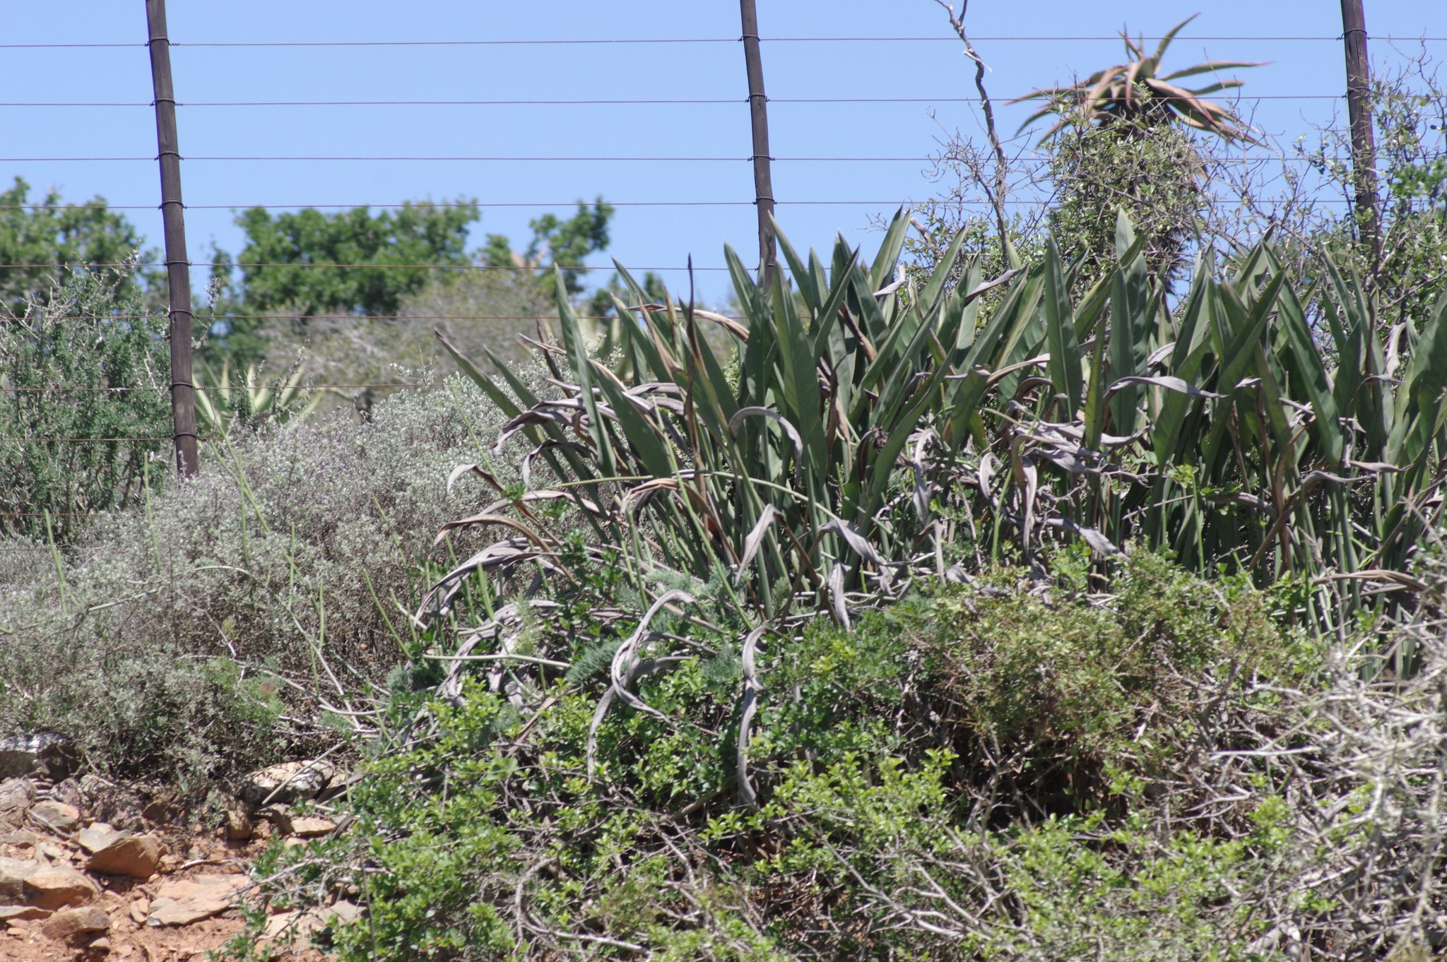
[[[996,778],[1019,772],[1036,804],[1066,813],[1100,804],[1129,774],[1159,774],[1227,715],[1231,705],[1202,700],[1202,683],[1213,694],[1294,684],[1315,664],[1265,596],[1149,553],[1098,606],[962,590],[936,616],[939,687],[965,739],[956,751]]]

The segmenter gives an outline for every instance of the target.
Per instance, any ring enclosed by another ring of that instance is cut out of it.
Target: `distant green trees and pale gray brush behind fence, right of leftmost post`
[[[258,380],[271,383],[302,367],[300,386],[356,385],[315,395],[318,406],[343,402],[366,412],[388,393],[372,385],[449,369],[434,331],[472,353],[489,347],[524,360],[518,334],[535,336],[537,318],[554,312],[551,276],[541,269],[559,268],[570,295],[582,297],[580,268],[608,246],[614,208],[598,198],[579,201],[570,217],[544,214],[517,250],[502,234],[469,250],[479,216],[466,201],[381,213],[243,211],[237,224],[247,244],[236,262],[260,266],[237,269],[230,255],[216,253],[201,349],[207,376],[218,379],[223,365],[233,378],[256,366]]]

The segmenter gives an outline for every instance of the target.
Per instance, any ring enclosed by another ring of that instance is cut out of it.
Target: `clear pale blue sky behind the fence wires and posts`
[[[774,165],[780,220],[796,244],[826,246],[835,231],[870,246],[871,216],[933,190],[922,158],[952,130],[978,136],[969,104],[969,62],[951,42],[932,0],[757,0],[776,158],[890,156],[897,162]],[[757,256],[747,84],[738,4],[495,3],[460,0],[169,0],[177,97],[182,104],[273,100],[728,100],[696,106],[437,106],[437,107],[203,107],[179,111],[181,152],[204,156],[708,156],[718,162],[287,162],[201,161],[182,166],[192,260],[208,260],[213,242],[236,252],[240,233],[230,207],[252,204],[395,204],[475,197],[483,204],[557,204],[602,194],[638,201],[745,201],[732,207],[627,207],[615,218],[612,255],[638,268],[669,268],[693,255],[722,263],[732,243]],[[958,4],[956,4],[958,6]],[[1020,41],[1020,36],[1111,38],[1159,35],[1201,10],[1191,38],[1314,36],[1325,41],[1182,39],[1178,65],[1198,59],[1259,59],[1244,71],[1244,94],[1259,126],[1294,137],[1333,111],[1344,88],[1340,7],[1334,0],[1246,3],[1064,3],[975,0],[968,27],[988,61],[997,100],[1068,81],[1117,62],[1120,42]],[[1373,61],[1395,56],[1380,38],[1447,36],[1447,3],[1366,0]],[[150,100],[142,0],[13,3],[3,43],[129,43],[124,48],[0,49],[4,101]],[[797,42],[777,38],[942,38],[938,42]],[[517,46],[187,46],[269,41],[514,41],[599,38],[716,38],[716,43],[517,45]],[[776,39],[770,39],[776,38]],[[991,39],[1001,38],[1001,39]],[[1428,51],[1447,55],[1447,43]],[[1311,94],[1315,100],[1270,100]],[[922,98],[919,103],[790,104],[793,98]],[[152,158],[149,107],[0,107],[7,158]],[[1013,130],[1020,108],[1006,108]],[[58,188],[68,200],[96,194],[140,205],[127,214],[159,244],[156,165],[123,162],[0,162],[0,176]],[[790,204],[831,201],[829,204]],[[867,201],[842,204],[838,201]],[[205,205],[220,205],[207,210]],[[544,207],[486,208],[475,229],[527,234]],[[566,208],[553,210],[566,211]],[[599,263],[608,263],[606,257]],[[677,288],[683,278],[666,275]],[[722,275],[700,275],[705,295],[722,297]]]

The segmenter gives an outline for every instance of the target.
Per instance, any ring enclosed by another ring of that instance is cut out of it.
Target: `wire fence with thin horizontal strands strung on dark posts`
[[[745,0],[745,6],[751,6],[751,0]],[[172,443],[177,448],[177,466],[182,473],[191,473],[195,470],[197,453],[195,447],[190,451],[185,446],[190,443],[207,443],[216,438],[203,437],[195,430],[195,414],[194,402],[191,402],[191,393],[201,392],[236,392],[247,391],[247,385],[197,385],[192,383],[190,376],[190,349],[191,339],[190,330],[192,323],[191,305],[190,305],[190,268],[237,268],[237,269],[262,269],[262,268],[289,268],[289,269],[368,269],[368,271],[389,271],[389,269],[410,269],[410,271],[450,271],[450,272],[486,272],[486,271],[502,271],[502,272],[518,272],[527,269],[535,271],[550,271],[551,266],[538,268],[518,268],[514,265],[488,265],[488,263],[330,263],[330,262],[207,262],[207,260],[190,260],[185,250],[184,240],[184,226],[182,226],[182,211],[190,210],[237,210],[237,208],[259,208],[259,210],[297,210],[297,208],[315,208],[315,210],[350,210],[350,208],[375,208],[375,210],[399,210],[407,207],[407,204],[395,203],[349,203],[349,204],[302,204],[302,203],[207,203],[207,204],[182,204],[179,191],[179,171],[181,166],[190,163],[385,163],[385,162],[407,162],[407,163],[446,163],[446,162],[532,162],[532,163],[667,163],[667,165],[728,165],[728,163],[750,163],[755,168],[755,195],[752,200],[745,198],[693,198],[693,200],[609,200],[606,201],[609,207],[616,208],[651,208],[651,207],[666,207],[666,208],[721,208],[721,207],[760,207],[763,201],[767,201],[767,208],[761,211],[761,262],[760,268],[765,268],[768,256],[764,250],[764,224],[767,223],[768,208],[777,207],[870,207],[870,208],[887,208],[896,205],[910,207],[916,201],[907,197],[900,198],[790,198],[790,197],[765,197],[764,187],[757,181],[760,162],[767,163],[932,163],[938,162],[938,156],[897,156],[897,155],[874,155],[874,156],[829,156],[829,155],[799,155],[799,156],[768,156],[767,155],[767,120],[764,122],[764,153],[758,150],[758,126],[754,124],[754,150],[750,153],[739,152],[732,156],[724,155],[532,155],[525,152],[518,153],[493,153],[493,155],[427,155],[427,153],[410,153],[410,155],[265,155],[265,153],[247,153],[247,155],[184,155],[179,146],[175,143],[175,110],[227,110],[227,108],[408,108],[408,107],[602,107],[602,106],[635,106],[635,107],[664,107],[664,106],[732,106],[732,107],[747,107],[752,108],[761,107],[764,103],[770,104],[800,104],[800,106],[823,106],[823,104],[980,104],[980,97],[765,97],[763,93],[763,82],[752,82],[750,77],[750,95],[747,97],[702,97],[702,98],[493,98],[493,100],[467,100],[467,98],[398,98],[398,100],[197,100],[188,101],[184,98],[177,98],[169,90],[169,49],[171,48],[469,48],[469,46],[538,46],[538,48],[560,48],[566,49],[579,45],[729,45],[745,42],[754,39],[754,48],[757,49],[760,43],[768,45],[770,48],[787,48],[787,45],[819,45],[819,43],[838,43],[838,45],[912,45],[912,43],[954,43],[958,45],[959,39],[955,36],[941,35],[941,36],[758,36],[757,27],[754,33],[750,35],[750,25],[745,16],[744,20],[744,36],[741,38],[596,38],[596,39],[454,39],[454,41],[265,41],[265,42],[188,42],[177,41],[166,35],[165,32],[165,17],[164,17],[164,0],[148,0],[148,17],[150,26],[150,36],[146,42],[104,42],[104,43],[0,43],[0,49],[38,49],[38,51],[61,51],[61,49],[130,49],[142,48],[153,58],[153,68],[156,77],[156,98],[152,101],[0,101],[3,108],[43,108],[43,110],[64,110],[64,108],[114,108],[114,110],[140,110],[158,111],[159,124],[159,150],[158,155],[152,156],[78,156],[78,155],[59,155],[59,156],[45,156],[45,155],[16,155],[16,156],[0,156],[0,162],[4,163],[71,163],[71,162],[87,162],[87,163],[156,163],[158,161],[165,168],[169,165],[172,168],[168,176],[164,171],[164,198],[161,203],[162,211],[168,211],[172,221],[168,221],[168,247],[165,260],[148,260],[148,262],[114,262],[114,263],[0,263],[0,271],[55,271],[62,272],[67,269],[81,269],[81,271],[97,271],[97,269],[136,269],[136,268],[166,268],[169,272],[168,288],[171,291],[171,343],[172,343],[172,370],[169,373],[169,385],[119,385],[119,386],[80,386],[80,385],[45,385],[45,386],[16,386],[16,385],[0,385],[0,395],[36,395],[36,393],[55,393],[55,395],[87,395],[94,392],[106,393],[126,393],[126,392],[169,392],[174,401],[175,422],[172,434],[153,434],[153,435],[135,435],[135,437],[65,437],[65,435],[36,435],[36,437],[0,437],[0,444],[132,444],[132,446],[159,446],[164,443]],[[1114,41],[1119,36],[1092,36],[1092,35],[1003,35],[1003,36],[978,36],[972,38],[975,42],[991,42],[991,43],[1014,43],[1014,42],[1079,42],[1079,41]],[[1146,41],[1159,41],[1158,36],[1142,38]],[[1341,36],[1328,35],[1297,35],[1297,36],[1268,36],[1268,35],[1233,35],[1233,36],[1182,36],[1178,41],[1256,41],[1256,42],[1314,42],[1314,43],[1340,43]],[[1414,38],[1376,38],[1386,42],[1443,42],[1447,36],[1414,36]],[[137,51],[139,54],[139,51]],[[164,65],[156,65],[155,61],[164,61]],[[164,67],[164,69],[162,69]],[[751,62],[748,67],[754,68],[757,64]],[[742,81],[744,72],[739,74]],[[1327,94],[1327,93],[1289,93],[1289,94],[1252,94],[1250,97],[1242,97],[1247,101],[1344,101],[1344,94]],[[169,124],[162,116],[169,107]],[[146,116],[145,123],[152,123],[152,117]],[[742,142],[742,117],[739,117],[739,137]],[[169,137],[169,139],[168,139]],[[1252,152],[1242,150],[1231,156],[1233,161],[1250,162],[1250,161],[1270,161],[1279,163],[1299,163],[1310,165],[1314,161],[1305,156],[1285,156],[1282,153],[1270,152]],[[1048,158],[1039,156],[1022,156],[1016,163],[1024,165],[1043,165],[1048,163]],[[739,178],[741,187],[747,185],[747,181]],[[767,185],[767,179],[763,182]],[[1218,198],[1215,198],[1218,200]],[[1215,203],[1215,200],[1210,203]],[[447,201],[433,203],[434,207],[469,207],[469,208],[567,208],[576,201],[470,201],[451,204]],[[987,201],[954,201],[954,203],[977,203],[981,207],[987,205]],[[1349,204],[1347,198],[1318,198],[1315,203],[1323,204]],[[1032,207],[1037,205],[1037,200],[1027,198],[1007,198],[1004,200],[1007,205]],[[0,205],[0,210],[39,210],[41,204],[13,204]],[[67,208],[71,210],[109,210],[109,211],[127,211],[127,210],[155,210],[156,205],[143,204],[68,204]],[[179,236],[175,236],[175,231]],[[179,246],[177,246],[179,243]],[[589,265],[569,266],[570,271],[593,272],[593,271],[612,271],[612,268],[599,268]],[[728,268],[722,265],[661,265],[661,266],[638,266],[637,271],[647,272],[669,272],[669,273],[683,273],[683,272],[726,272]],[[179,291],[178,291],[179,288]],[[182,294],[184,297],[178,297]],[[152,315],[136,315],[136,314],[104,314],[104,315],[84,315],[75,314],[74,320],[104,320],[104,321],[127,321],[127,320],[142,320]],[[586,320],[605,321],[611,320],[608,315],[580,315]],[[0,323],[14,318],[0,318]],[[476,323],[522,323],[535,321],[538,315],[535,314],[227,314],[224,317],[216,318],[220,321],[230,320],[295,320],[295,321],[311,321],[311,320],[336,320],[336,321],[476,321]],[[546,318],[544,318],[546,320]],[[178,336],[178,331],[187,331],[185,336]],[[318,391],[356,391],[356,389],[404,389],[404,388],[438,388],[443,386],[438,380],[359,380],[359,382],[337,382],[337,383],[311,383],[308,388]],[[179,391],[178,391],[179,389]],[[190,408],[190,409],[187,409]],[[0,532],[14,528],[14,521],[23,518],[85,518],[96,512],[93,511],[74,511],[74,512],[25,512],[25,511],[0,511]],[[49,545],[32,545],[32,544],[7,544],[0,545],[0,553],[9,551],[58,551],[64,545],[49,544]]]

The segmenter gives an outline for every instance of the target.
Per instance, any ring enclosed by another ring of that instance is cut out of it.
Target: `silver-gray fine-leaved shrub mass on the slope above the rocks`
[[[98,521],[64,574],[9,553],[29,561],[0,582],[0,731],[64,731],[101,771],[194,784],[334,741],[350,716],[327,706],[405,661],[418,564],[446,563],[431,538],[478,496],[449,495],[447,473],[499,424],[454,379],[363,424],[242,434],[192,482]]]

